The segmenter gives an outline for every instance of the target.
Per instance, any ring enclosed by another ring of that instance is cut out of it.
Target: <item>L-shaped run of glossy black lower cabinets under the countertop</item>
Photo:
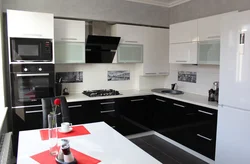
[[[154,95],[74,102],[68,106],[73,124],[104,121],[124,136],[154,130],[215,158],[216,110]]]

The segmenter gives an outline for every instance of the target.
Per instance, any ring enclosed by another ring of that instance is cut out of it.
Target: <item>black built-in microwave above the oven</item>
[[[51,39],[10,38],[11,62],[51,62]]]

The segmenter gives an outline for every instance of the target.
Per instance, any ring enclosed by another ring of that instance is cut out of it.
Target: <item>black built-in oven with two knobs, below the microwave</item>
[[[53,64],[13,64],[11,65],[12,107],[41,105],[41,99],[53,97]]]

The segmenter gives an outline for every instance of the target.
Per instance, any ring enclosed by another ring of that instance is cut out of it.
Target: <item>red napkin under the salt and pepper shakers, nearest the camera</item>
[[[71,150],[71,153],[74,155],[75,159],[77,160],[77,164],[97,164],[101,162],[98,159],[90,157],[72,148],[70,150]],[[31,156],[31,158],[39,162],[40,164],[56,164],[55,157],[50,155],[49,151],[47,150],[39,154]]]

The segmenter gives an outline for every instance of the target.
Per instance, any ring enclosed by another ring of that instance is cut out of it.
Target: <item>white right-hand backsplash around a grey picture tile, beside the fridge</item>
[[[197,82],[178,81],[178,71],[197,72]],[[170,88],[172,83],[177,83],[179,90],[208,96],[214,81],[219,81],[219,66],[170,64],[170,75],[166,78],[165,87]]]

